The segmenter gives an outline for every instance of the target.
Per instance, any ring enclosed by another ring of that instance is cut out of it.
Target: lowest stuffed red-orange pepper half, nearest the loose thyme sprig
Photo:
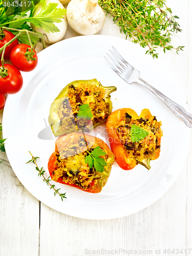
[[[99,138],[81,133],[60,136],[49,158],[51,179],[90,193],[108,181],[115,156]]]

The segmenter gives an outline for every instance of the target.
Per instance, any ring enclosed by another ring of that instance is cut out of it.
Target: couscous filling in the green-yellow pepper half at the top
[[[105,102],[104,96],[104,88],[96,84],[81,83],[77,87],[71,85],[68,95],[63,99],[58,110],[61,129],[71,131],[84,129],[89,132],[92,126],[98,122],[104,122],[108,118],[110,110],[109,103]],[[77,116],[79,106],[82,104],[89,104],[93,114],[91,119]]]

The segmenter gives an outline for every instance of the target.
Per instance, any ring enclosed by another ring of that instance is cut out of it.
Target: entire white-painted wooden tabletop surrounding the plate
[[[181,8],[180,1],[167,0],[167,6],[172,8],[174,15],[180,17],[179,23],[183,29],[182,33],[174,36],[174,44],[188,44],[188,47],[179,55],[167,52],[155,61],[162,61],[164,67],[175,74],[183,87],[190,112],[192,112],[192,55],[190,50],[192,5],[188,0],[188,3],[182,2]],[[187,9],[189,22],[187,22]],[[109,18],[99,34],[124,38],[119,28]],[[65,38],[71,36],[78,36],[78,34],[68,27]],[[188,70],[186,69],[187,59]],[[164,249],[191,248],[191,153],[190,148],[187,165],[172,188],[153,205],[134,215],[104,221],[83,220],[60,214],[41,204],[40,256],[81,256],[84,255],[85,249],[101,250],[102,248],[106,250],[153,250],[154,255],[155,249],[161,249],[162,252]],[[15,184],[11,168],[5,165],[0,165],[0,168],[0,255],[37,256],[39,202],[23,186]]]

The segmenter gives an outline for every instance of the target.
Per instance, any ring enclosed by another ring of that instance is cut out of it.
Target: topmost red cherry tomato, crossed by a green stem
[[[9,42],[13,37],[15,37],[15,35],[7,30],[4,30],[4,34],[5,37],[3,40],[0,40],[0,48],[2,48],[6,42]],[[4,54],[4,59],[10,59],[10,53],[11,50],[18,45],[18,40],[14,40],[9,46],[6,47],[5,49],[5,54]],[[2,56],[2,54],[0,55],[0,57]]]

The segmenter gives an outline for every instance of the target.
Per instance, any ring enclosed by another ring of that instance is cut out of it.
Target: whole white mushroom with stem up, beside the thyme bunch
[[[66,15],[69,25],[81,35],[96,34],[105,22],[98,0],[71,0]]]

